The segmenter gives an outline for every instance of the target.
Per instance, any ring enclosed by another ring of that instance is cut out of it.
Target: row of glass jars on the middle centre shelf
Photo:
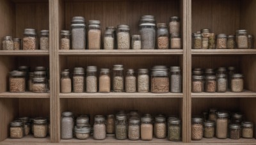
[[[75,67],[72,79],[68,69],[61,72],[61,93],[108,93],[111,92],[151,92],[152,93],[180,93],[182,92],[182,76],[180,67],[154,66],[151,71],[151,81],[148,69],[138,69],[136,77],[134,69],[127,69],[124,77],[124,66],[114,65],[112,81],[109,69],[100,69],[97,77],[97,67],[88,66],[84,77],[84,68]],[[99,79],[99,80],[98,80]],[[85,82],[84,82],[85,81]],[[98,83],[99,82],[99,83]],[[73,83],[73,85],[72,85]],[[150,89],[151,84],[151,89]],[[98,91],[99,88],[99,91]]]

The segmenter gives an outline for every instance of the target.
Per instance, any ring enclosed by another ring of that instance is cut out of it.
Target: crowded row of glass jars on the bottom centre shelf
[[[181,122],[177,116],[169,116],[166,121],[163,115],[153,119],[150,114],[140,117],[137,111],[131,111],[129,114],[119,111],[116,115],[108,114],[106,117],[96,115],[91,128],[88,116],[81,115],[74,123],[72,112],[62,113],[61,139],[72,139],[73,136],[77,139],[88,139],[91,133],[95,140],[106,139],[106,134],[115,134],[118,140],[151,141],[154,136],[158,139],[167,137],[170,141],[180,141]]]

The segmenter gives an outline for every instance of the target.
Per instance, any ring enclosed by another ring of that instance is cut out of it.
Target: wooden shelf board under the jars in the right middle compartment
[[[249,90],[244,90],[241,93],[235,93],[235,92],[225,92],[225,93],[192,93],[192,98],[242,98],[242,97],[256,97],[256,92],[251,92]]]

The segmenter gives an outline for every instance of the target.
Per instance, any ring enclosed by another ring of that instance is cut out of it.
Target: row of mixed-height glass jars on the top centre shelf
[[[170,17],[168,25],[157,24],[152,15],[143,15],[140,19],[140,35],[130,36],[129,25],[118,25],[116,27],[106,27],[103,40],[101,40],[101,27],[99,20],[89,20],[88,44],[86,44],[86,24],[84,17],[73,17],[70,30],[60,32],[61,50],[134,50],[139,49],[180,49],[180,19]],[[156,39],[157,36],[157,39]],[[131,40],[132,39],[132,40]],[[103,43],[102,43],[103,42]],[[170,45],[170,46],[169,46]]]

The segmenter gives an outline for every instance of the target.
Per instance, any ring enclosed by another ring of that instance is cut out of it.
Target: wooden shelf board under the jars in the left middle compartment
[[[33,93],[33,92],[10,93],[10,92],[3,92],[3,93],[0,93],[0,98],[50,98],[50,93]]]

